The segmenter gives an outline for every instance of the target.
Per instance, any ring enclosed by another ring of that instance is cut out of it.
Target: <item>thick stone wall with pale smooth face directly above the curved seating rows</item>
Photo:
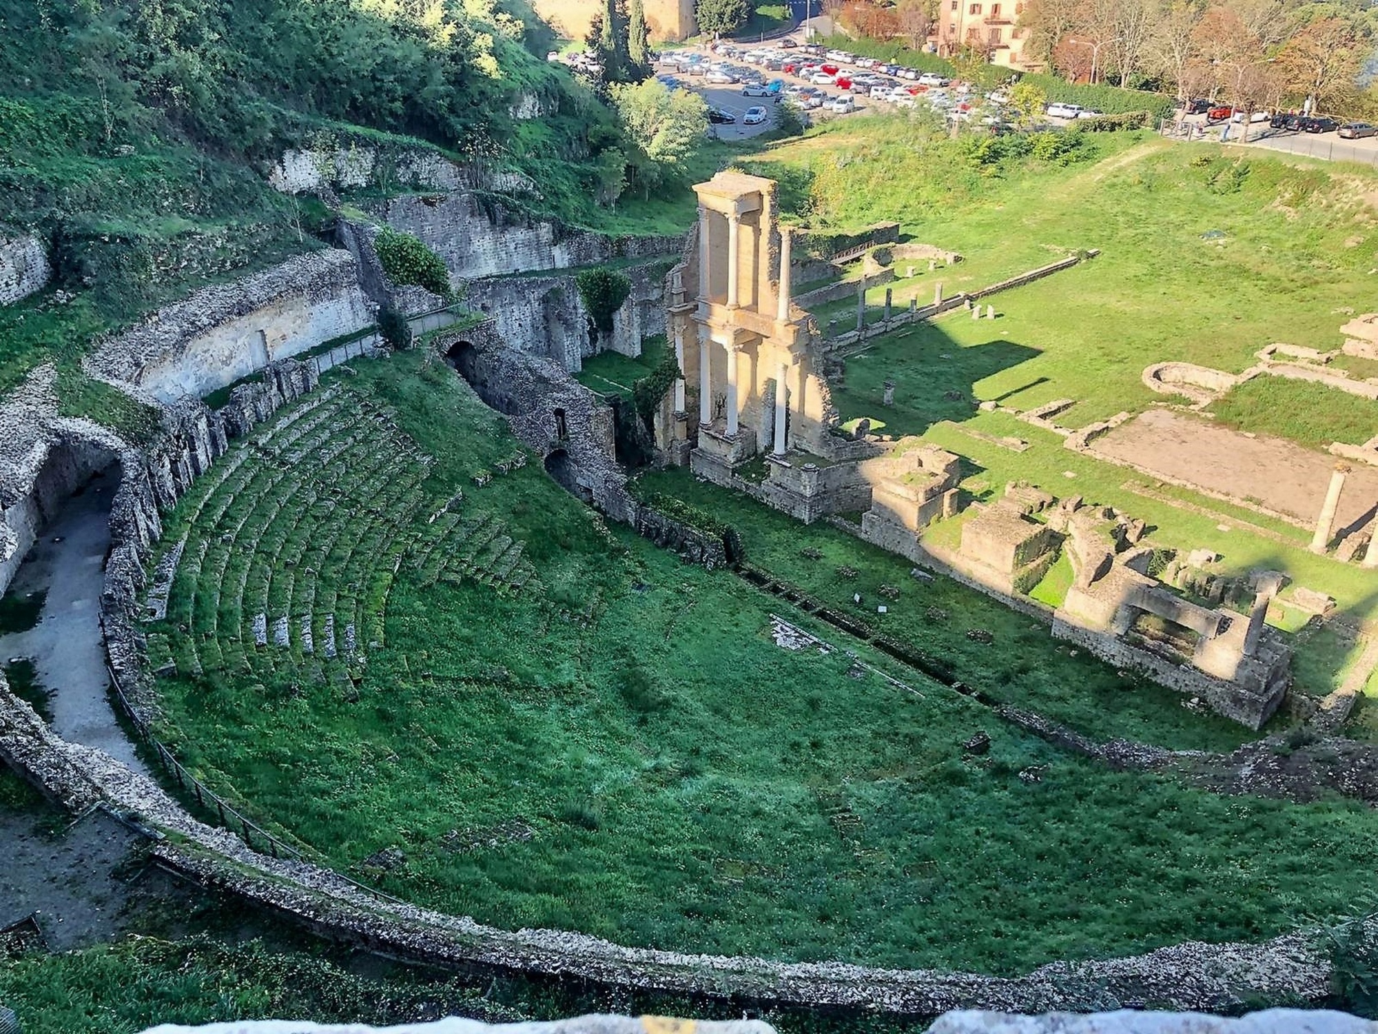
[[[375,318],[347,251],[298,255],[196,291],[99,342],[88,374],[158,403],[205,396]]]

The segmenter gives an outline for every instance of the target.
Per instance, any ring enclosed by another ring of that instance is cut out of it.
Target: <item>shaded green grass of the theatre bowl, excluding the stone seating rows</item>
[[[511,443],[457,379],[415,361],[362,364],[353,383],[438,458],[444,491]],[[407,864],[383,877],[394,892],[638,944],[1009,972],[1262,936],[1302,902],[1341,911],[1349,874],[1378,847],[1357,807],[1225,800],[1112,773],[912,674],[919,695],[853,677],[836,653],[783,651],[765,631],[776,600],[599,531],[532,466],[467,498],[526,536],[547,601],[471,583],[420,590],[404,567],[387,647],[369,652],[353,703],[310,682],[295,696],[214,674],[164,685],[164,731],[212,784],[343,867],[400,847]],[[788,565],[794,528],[772,538],[752,532],[748,547]],[[973,616],[948,593],[933,598],[960,638]],[[905,589],[901,634],[925,634],[927,602]],[[999,641],[1022,644],[1007,620],[980,615]],[[992,682],[1071,674],[1065,658],[1046,667],[1011,652],[974,660]],[[278,662],[273,678],[292,674]],[[1093,692],[1118,707],[1112,687]],[[963,760],[981,728],[989,756]],[[1029,765],[1047,767],[1043,782],[1017,778]],[[452,830],[513,819],[532,840],[445,845]]]

